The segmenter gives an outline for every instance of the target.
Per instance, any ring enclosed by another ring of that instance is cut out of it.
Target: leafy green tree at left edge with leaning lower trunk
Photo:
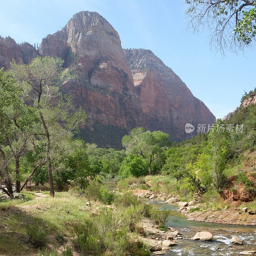
[[[16,192],[20,193],[29,179],[28,177],[20,187],[20,157],[33,144],[34,135],[39,131],[38,116],[33,108],[24,103],[19,95],[20,92],[10,73],[0,70],[0,152],[1,164],[5,170],[5,174],[0,176],[7,177],[8,182],[5,186],[8,193],[6,194],[11,198],[13,191],[10,166],[15,165]],[[36,163],[34,172],[44,163],[42,159],[41,162]]]

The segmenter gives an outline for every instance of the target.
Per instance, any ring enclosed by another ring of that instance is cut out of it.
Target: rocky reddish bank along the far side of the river
[[[159,178],[156,179],[159,180]],[[161,188],[161,181],[158,181],[157,183]],[[143,186],[147,186],[147,189],[140,189],[143,188]],[[168,194],[163,193],[163,190],[161,191],[161,189],[152,191],[152,188],[155,187],[155,182],[151,179],[144,183],[133,183],[130,185],[128,190],[133,191],[133,193],[139,198],[147,199],[148,201],[177,204],[180,206],[178,211],[184,214],[187,219],[191,221],[233,225],[256,225],[254,201],[247,203],[239,200],[232,201],[232,196],[229,196],[228,199],[224,200],[217,192],[214,195],[216,200],[212,200],[212,198],[209,197],[209,200],[206,203],[200,202],[200,198],[193,197],[190,197],[187,201],[184,201],[186,198],[181,197],[177,192]],[[243,211],[243,209],[246,210]]]

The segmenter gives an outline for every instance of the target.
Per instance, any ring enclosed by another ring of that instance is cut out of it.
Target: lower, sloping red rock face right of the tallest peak
[[[211,111],[152,51],[124,52],[149,130],[162,130],[170,134],[171,140],[184,140],[191,137],[185,132],[185,124],[196,127],[197,124],[214,123]]]

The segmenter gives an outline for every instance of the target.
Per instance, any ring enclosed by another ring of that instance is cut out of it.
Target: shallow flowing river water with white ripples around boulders
[[[170,210],[166,226],[175,228],[182,233],[183,239],[174,240],[178,245],[170,248],[165,255],[180,256],[210,256],[210,255],[239,255],[240,251],[251,251],[256,249],[256,227],[240,226],[218,223],[207,223],[201,221],[187,220],[184,214],[178,212],[176,204],[163,204],[162,202],[147,201],[155,204],[159,210]],[[213,234],[213,240],[193,241],[197,231],[209,231]],[[188,236],[189,238],[186,238]],[[232,236],[238,236],[244,241],[242,245],[231,244]],[[220,247],[220,249],[217,249]]]

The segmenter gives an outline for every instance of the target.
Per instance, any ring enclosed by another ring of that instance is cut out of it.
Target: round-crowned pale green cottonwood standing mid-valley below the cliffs
[[[163,157],[165,142],[169,135],[161,131],[150,132],[143,128],[132,129],[129,135],[122,139],[122,145],[128,153],[136,154],[148,161],[149,174],[152,174],[152,163]]]

